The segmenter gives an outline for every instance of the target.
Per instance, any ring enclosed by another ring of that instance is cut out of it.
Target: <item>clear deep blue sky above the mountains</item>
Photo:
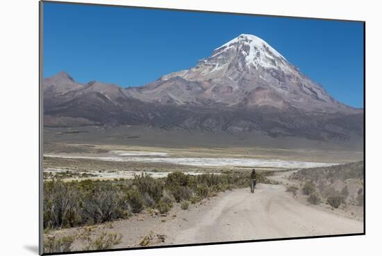
[[[44,77],[144,85],[238,35],[263,38],[335,99],[363,108],[363,24],[44,3]]]

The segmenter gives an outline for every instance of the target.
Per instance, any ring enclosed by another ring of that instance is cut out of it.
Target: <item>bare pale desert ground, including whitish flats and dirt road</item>
[[[256,168],[269,182],[258,184],[254,194],[249,187],[228,189],[190,203],[186,209],[174,203],[162,214],[146,207],[128,219],[48,229],[44,236],[81,237],[88,232],[96,238],[106,232],[121,235],[113,248],[128,248],[362,233],[363,207],[309,203],[301,192],[303,182],[292,178],[301,169],[330,167],[362,157],[360,152],[344,150],[51,142],[44,152],[46,181],[131,180],[142,173],[163,179],[173,171],[199,176],[250,173]],[[291,186],[299,191],[290,193]],[[83,240],[74,239],[70,250],[83,249]]]

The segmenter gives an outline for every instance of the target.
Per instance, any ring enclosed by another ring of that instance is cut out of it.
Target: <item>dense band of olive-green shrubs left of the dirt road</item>
[[[259,180],[267,182],[261,173]],[[188,208],[219,191],[247,187],[249,173],[226,171],[220,175],[190,176],[179,171],[167,178],[135,176],[133,180],[46,180],[44,182],[44,228],[69,228],[127,219],[145,207],[160,214],[173,203]]]

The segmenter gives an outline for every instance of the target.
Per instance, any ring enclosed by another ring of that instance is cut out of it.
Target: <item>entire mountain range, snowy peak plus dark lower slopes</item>
[[[45,126],[143,125],[319,141],[363,138],[363,110],[335,101],[254,35],[142,87],[45,78]],[[65,120],[65,121],[63,121]]]

